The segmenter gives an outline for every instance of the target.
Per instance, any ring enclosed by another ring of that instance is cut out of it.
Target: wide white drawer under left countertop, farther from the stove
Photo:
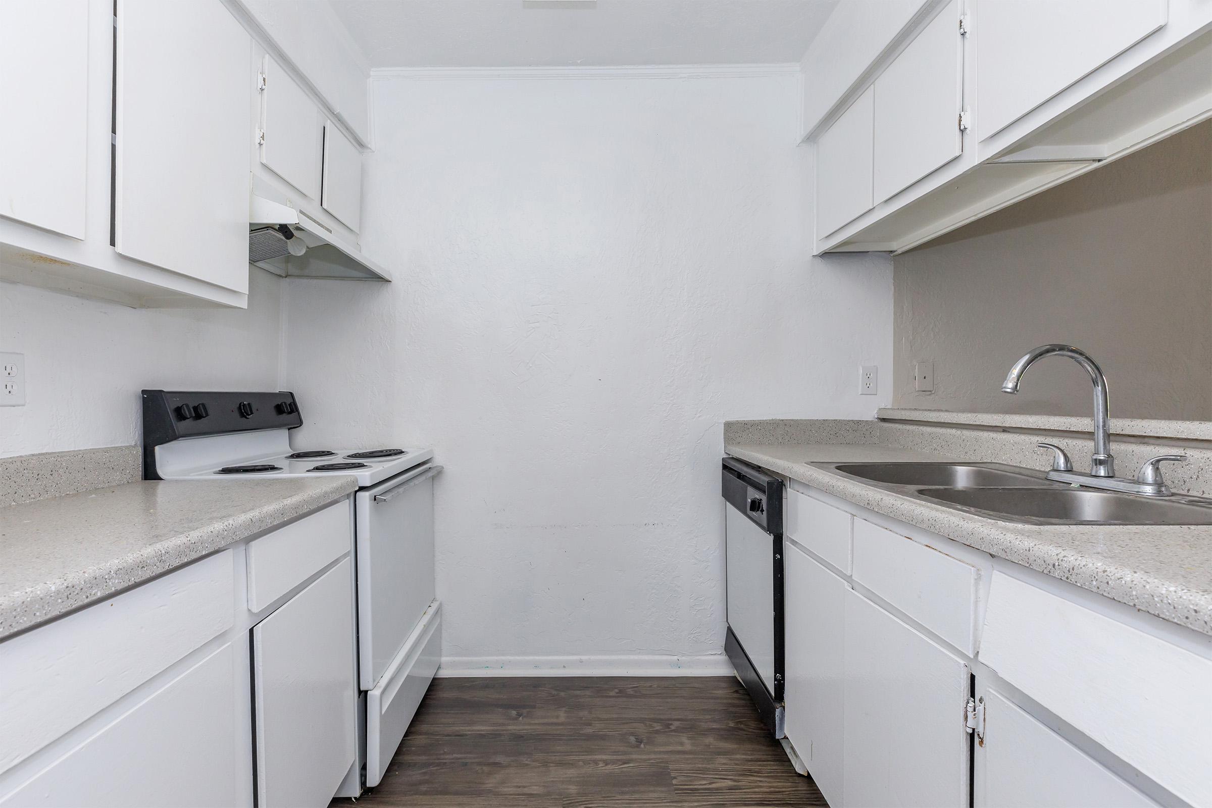
[[[0,643],[0,772],[227,631],[235,617],[233,554]]]

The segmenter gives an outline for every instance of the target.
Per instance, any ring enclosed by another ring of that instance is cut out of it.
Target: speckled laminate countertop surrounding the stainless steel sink
[[[982,518],[808,463],[954,460],[882,443],[725,443],[742,460],[1212,635],[1212,527],[1034,526]]]

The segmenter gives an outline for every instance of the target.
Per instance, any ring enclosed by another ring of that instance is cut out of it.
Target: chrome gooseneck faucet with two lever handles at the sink
[[[1048,480],[1068,482],[1074,486],[1086,486],[1088,488],[1102,488],[1105,491],[1120,491],[1131,494],[1144,494],[1145,497],[1168,497],[1173,492],[1161,479],[1161,463],[1180,463],[1187,458],[1182,454],[1162,454],[1147,460],[1136,480],[1121,480],[1115,476],[1115,458],[1111,455],[1111,414],[1107,401],[1107,377],[1103,368],[1086,351],[1073,345],[1040,345],[1029,351],[1021,360],[1014,362],[1006,374],[1006,380],[1001,383],[1001,391],[1016,394],[1018,384],[1036,360],[1045,356],[1068,356],[1077,362],[1094,385],[1094,453],[1090,458],[1090,474],[1073,470],[1073,463],[1065,451],[1056,443],[1037,443],[1040,448],[1053,452],[1052,470],[1048,471]]]

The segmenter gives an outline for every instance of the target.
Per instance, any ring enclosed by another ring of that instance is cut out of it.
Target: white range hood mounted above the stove
[[[248,263],[282,277],[391,280],[356,245],[256,178],[248,197]]]

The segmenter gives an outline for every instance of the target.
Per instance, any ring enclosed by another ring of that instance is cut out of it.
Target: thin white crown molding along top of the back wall
[[[799,75],[799,62],[774,64],[634,64],[533,68],[375,68],[371,79],[550,80],[550,79],[765,79]]]

